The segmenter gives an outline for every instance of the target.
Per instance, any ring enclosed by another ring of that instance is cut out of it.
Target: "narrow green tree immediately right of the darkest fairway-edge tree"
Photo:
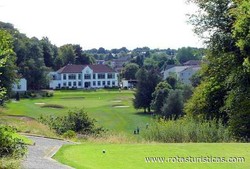
[[[151,107],[156,114],[161,114],[161,108],[166,101],[168,94],[170,92],[171,86],[167,82],[160,82],[154,93],[152,94],[153,100],[151,102]]]

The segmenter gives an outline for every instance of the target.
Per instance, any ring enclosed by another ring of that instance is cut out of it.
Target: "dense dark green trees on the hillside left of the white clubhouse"
[[[7,31],[11,37],[13,54],[6,60],[1,85],[10,94],[12,84],[18,77],[27,79],[28,89],[39,90],[48,86],[48,73],[67,64],[91,64],[95,60],[85,53],[80,45],[66,44],[61,47],[53,45],[47,37],[41,40],[28,38],[13,25],[0,22],[0,29]]]

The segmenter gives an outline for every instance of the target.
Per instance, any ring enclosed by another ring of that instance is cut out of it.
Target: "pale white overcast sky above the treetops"
[[[28,37],[83,49],[202,47],[185,0],[0,0],[0,21]]]

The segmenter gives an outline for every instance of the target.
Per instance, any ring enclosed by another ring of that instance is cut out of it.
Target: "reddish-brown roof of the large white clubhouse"
[[[81,73],[82,70],[89,66],[90,69],[94,71],[94,73],[111,73],[115,72],[115,70],[111,69],[107,65],[66,65],[59,69],[57,73]]]

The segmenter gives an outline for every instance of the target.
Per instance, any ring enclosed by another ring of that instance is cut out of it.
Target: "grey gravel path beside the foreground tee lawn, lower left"
[[[22,163],[22,169],[72,169],[51,158],[62,145],[70,144],[69,142],[43,137],[27,137],[33,140],[35,145],[28,147],[27,158]]]

